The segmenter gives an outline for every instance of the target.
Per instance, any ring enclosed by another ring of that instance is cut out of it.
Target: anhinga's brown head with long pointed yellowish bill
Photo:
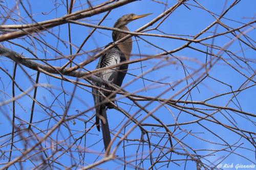
[[[139,18],[143,18],[147,15],[150,15],[151,13],[149,14],[143,14],[143,15],[136,15],[136,14],[126,14],[126,15],[123,15],[121,18],[119,18],[115,25],[114,25],[114,28],[121,28],[123,26],[126,26],[129,22],[133,21],[133,20],[136,20],[136,19],[139,19]]]

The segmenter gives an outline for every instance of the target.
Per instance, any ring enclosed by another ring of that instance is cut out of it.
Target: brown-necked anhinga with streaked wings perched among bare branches
[[[126,27],[127,23],[142,18],[144,16],[147,16],[149,14],[144,14],[144,15],[135,15],[135,14],[127,14],[123,15],[121,18],[119,18],[115,25],[114,28],[118,28],[121,30],[129,31],[128,28]],[[125,37],[127,34],[121,33],[118,31],[113,31],[112,33],[112,38],[113,41],[117,41],[123,37]],[[127,61],[130,59],[130,55],[132,52],[132,38],[128,38],[125,40],[123,43],[118,44],[117,46],[111,48],[111,50],[105,52],[99,59],[99,62],[97,64],[96,68],[102,68],[106,66],[111,66],[111,65],[116,65],[120,62]],[[107,69],[102,72],[99,72],[97,74],[98,77],[105,81],[110,81],[115,85],[121,86],[124,76],[127,72],[128,65],[121,65],[112,69]],[[110,89],[109,87],[105,87],[104,85],[100,85],[98,83],[94,83],[95,86],[102,87],[105,89]],[[100,93],[103,93],[106,97],[110,95],[110,93],[105,92],[105,91],[98,91],[97,89],[92,89],[93,93],[93,98],[94,98],[94,104],[96,106],[96,126],[98,131],[100,131],[100,126],[99,126],[99,120],[101,120],[101,130],[102,130],[102,136],[103,136],[103,142],[104,142],[104,147],[105,150],[108,147],[111,137],[110,137],[110,130],[109,130],[109,124],[108,124],[108,119],[106,117],[106,109],[112,109],[114,108],[111,103],[106,103],[103,105],[99,105],[103,100],[103,96]],[[115,99],[115,95],[111,96],[111,99],[113,101]]]

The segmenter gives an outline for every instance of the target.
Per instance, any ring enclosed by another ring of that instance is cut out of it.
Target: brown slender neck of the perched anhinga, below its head
[[[118,29],[129,31],[128,28],[125,27],[125,26],[122,26]],[[125,33],[120,33],[120,32],[117,32],[117,31],[113,31],[112,38],[113,38],[114,41],[117,41],[117,40],[125,37],[126,35],[127,34],[125,34]],[[130,56],[131,56],[131,53],[132,53],[132,47],[133,47],[132,38],[126,39],[124,42],[118,44],[117,46],[120,49],[120,51],[124,54],[126,60],[129,60]]]

